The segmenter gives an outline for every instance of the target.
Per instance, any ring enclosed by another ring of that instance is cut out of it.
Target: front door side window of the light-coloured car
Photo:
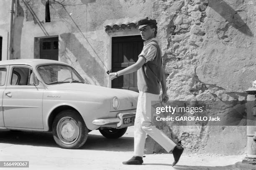
[[[34,82],[34,80],[36,82]],[[14,67],[12,72],[11,85],[38,85],[38,80],[33,71],[26,67]]]

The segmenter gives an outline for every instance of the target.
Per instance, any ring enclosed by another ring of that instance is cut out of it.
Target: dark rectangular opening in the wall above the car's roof
[[[59,37],[40,38],[40,58],[59,60]]]

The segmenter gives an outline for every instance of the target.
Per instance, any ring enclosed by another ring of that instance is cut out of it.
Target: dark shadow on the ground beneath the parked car
[[[0,143],[59,147],[55,143],[51,132],[0,130]],[[133,137],[107,139],[102,135],[89,134],[84,146],[82,146],[79,150],[105,150],[116,152],[133,151]]]

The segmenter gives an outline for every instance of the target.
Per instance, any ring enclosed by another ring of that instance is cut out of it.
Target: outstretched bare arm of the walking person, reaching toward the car
[[[138,58],[138,61],[135,64],[128,66],[123,70],[117,71],[118,76],[130,74],[130,73],[133,73],[134,71],[137,71],[138,69],[140,69],[143,66],[145,61],[146,61],[146,58],[144,58],[143,56],[140,56]],[[110,76],[111,80],[116,78],[115,73],[110,73],[109,76]]]

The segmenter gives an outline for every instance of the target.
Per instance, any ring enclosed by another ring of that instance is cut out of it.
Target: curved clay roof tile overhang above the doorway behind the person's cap
[[[109,31],[125,30],[125,28],[137,29],[138,28],[138,25],[137,25],[138,20],[141,20],[141,18],[136,18],[136,19],[133,18],[133,20],[131,20],[131,18],[115,20],[115,22],[105,25],[105,31],[109,32]]]

